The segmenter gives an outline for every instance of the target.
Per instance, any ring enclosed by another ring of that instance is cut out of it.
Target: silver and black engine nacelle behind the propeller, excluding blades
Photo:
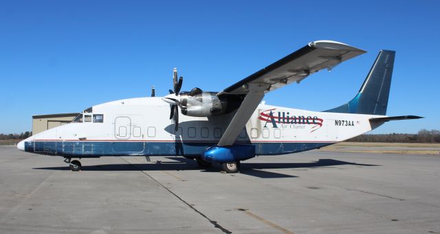
[[[217,96],[217,92],[202,92],[194,88],[179,94],[181,114],[195,117],[219,116],[239,108],[243,96]]]

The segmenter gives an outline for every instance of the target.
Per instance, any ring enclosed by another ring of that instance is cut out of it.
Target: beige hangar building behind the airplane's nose
[[[32,116],[32,135],[72,122],[79,113],[44,114]]]

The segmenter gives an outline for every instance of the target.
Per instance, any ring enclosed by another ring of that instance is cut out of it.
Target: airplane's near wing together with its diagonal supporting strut
[[[299,83],[314,72],[325,68],[331,70],[343,61],[364,53],[364,50],[336,41],[311,42],[219,92],[218,96],[223,94],[246,96],[217,145],[234,144],[265,93],[293,82]]]

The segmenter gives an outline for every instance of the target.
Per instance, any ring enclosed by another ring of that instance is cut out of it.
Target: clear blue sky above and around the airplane
[[[315,111],[355,96],[377,52],[396,50],[389,116],[373,131],[440,129],[440,1],[0,1],[0,133],[33,114],[163,96],[173,67],[182,90],[220,91],[310,41],[368,53],[265,96]]]

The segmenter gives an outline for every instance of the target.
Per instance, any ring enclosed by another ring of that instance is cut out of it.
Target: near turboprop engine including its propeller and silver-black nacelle
[[[170,119],[175,122],[175,129],[179,123],[178,108],[181,114],[194,117],[219,116],[238,109],[243,101],[241,95],[217,96],[217,92],[203,92],[195,87],[190,92],[180,92],[184,78],[177,79],[177,70],[173,71],[173,90],[162,100],[170,104]]]

